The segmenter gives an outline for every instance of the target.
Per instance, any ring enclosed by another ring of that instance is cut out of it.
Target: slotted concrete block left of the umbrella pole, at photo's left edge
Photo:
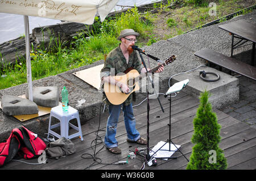
[[[8,116],[38,113],[38,106],[36,103],[13,95],[3,95],[1,106],[3,112]]]

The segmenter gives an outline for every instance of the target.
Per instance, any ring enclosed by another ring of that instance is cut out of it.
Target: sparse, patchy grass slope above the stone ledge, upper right
[[[203,2],[203,3],[200,3]],[[180,8],[176,9],[163,9],[159,14],[166,14],[166,27],[160,24],[158,28],[163,28],[166,31],[161,38],[163,40],[170,39],[171,37],[181,35],[184,32],[192,30],[197,27],[201,27],[204,24],[212,22],[213,20],[220,19],[220,22],[225,21],[224,16],[232,14],[233,12],[245,9],[243,0],[219,0],[213,1],[216,3],[216,15],[210,15],[209,11],[212,12],[213,6],[209,7],[209,2],[212,1],[183,1]],[[197,5],[195,5],[195,3]],[[251,10],[243,11],[242,14],[247,14]],[[157,23],[163,18],[163,16],[155,15],[154,23]],[[159,16],[159,17],[158,17]]]

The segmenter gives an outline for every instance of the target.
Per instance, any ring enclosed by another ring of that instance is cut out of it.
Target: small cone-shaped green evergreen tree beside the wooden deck
[[[217,123],[208,96],[208,91],[201,93],[200,105],[193,119],[194,133],[191,141],[195,146],[187,170],[222,170],[228,166],[223,151],[218,147],[221,125]]]

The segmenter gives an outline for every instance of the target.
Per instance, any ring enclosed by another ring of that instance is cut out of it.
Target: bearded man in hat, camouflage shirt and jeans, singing
[[[108,56],[104,64],[104,68],[101,70],[101,81],[102,83],[108,82],[115,86],[118,86],[122,92],[128,93],[130,91],[129,87],[122,82],[118,82],[114,79],[110,73],[111,69],[114,69],[114,75],[118,73],[123,73],[128,68],[133,68],[137,70],[140,74],[146,73],[146,68],[143,68],[141,61],[139,61],[138,54],[133,51],[131,46],[137,42],[137,37],[139,36],[138,32],[135,32],[132,29],[125,29],[120,32],[118,40],[121,41],[119,46],[113,49]],[[163,65],[155,71],[160,73],[163,71]],[[122,151],[118,148],[118,142],[115,139],[115,134],[117,132],[117,123],[119,113],[121,108],[123,111],[123,119],[125,122],[125,128],[127,132],[127,141],[135,142],[137,144],[146,145],[147,140],[142,138],[138,130],[135,128],[136,120],[133,113],[133,98],[134,95],[130,94],[129,97],[119,105],[114,105],[109,102],[108,98],[104,95],[105,103],[109,105],[109,117],[106,125],[106,134],[105,134],[105,147],[111,153],[120,154]]]

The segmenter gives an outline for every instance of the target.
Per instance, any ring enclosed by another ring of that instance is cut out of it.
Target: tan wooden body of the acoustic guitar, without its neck
[[[112,85],[110,83],[105,82],[104,83],[104,92],[106,94],[106,97],[108,98],[109,102],[114,105],[119,105],[125,102],[125,100],[129,97],[131,93],[134,91],[139,90],[139,84],[138,81],[133,80],[135,78],[139,77],[139,72],[135,69],[130,70],[128,73],[123,75],[117,75],[114,77],[119,82],[125,83],[126,85],[129,85],[130,92],[129,94],[125,94],[122,92],[121,89],[119,89],[118,86]]]

